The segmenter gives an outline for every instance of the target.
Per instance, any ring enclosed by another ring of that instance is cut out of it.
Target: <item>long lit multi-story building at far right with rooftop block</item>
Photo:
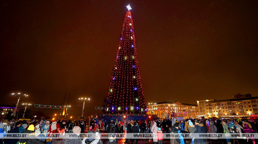
[[[236,94],[233,97],[226,100],[198,100],[198,111],[208,118],[250,117],[258,114],[258,97],[251,97],[250,94]]]

